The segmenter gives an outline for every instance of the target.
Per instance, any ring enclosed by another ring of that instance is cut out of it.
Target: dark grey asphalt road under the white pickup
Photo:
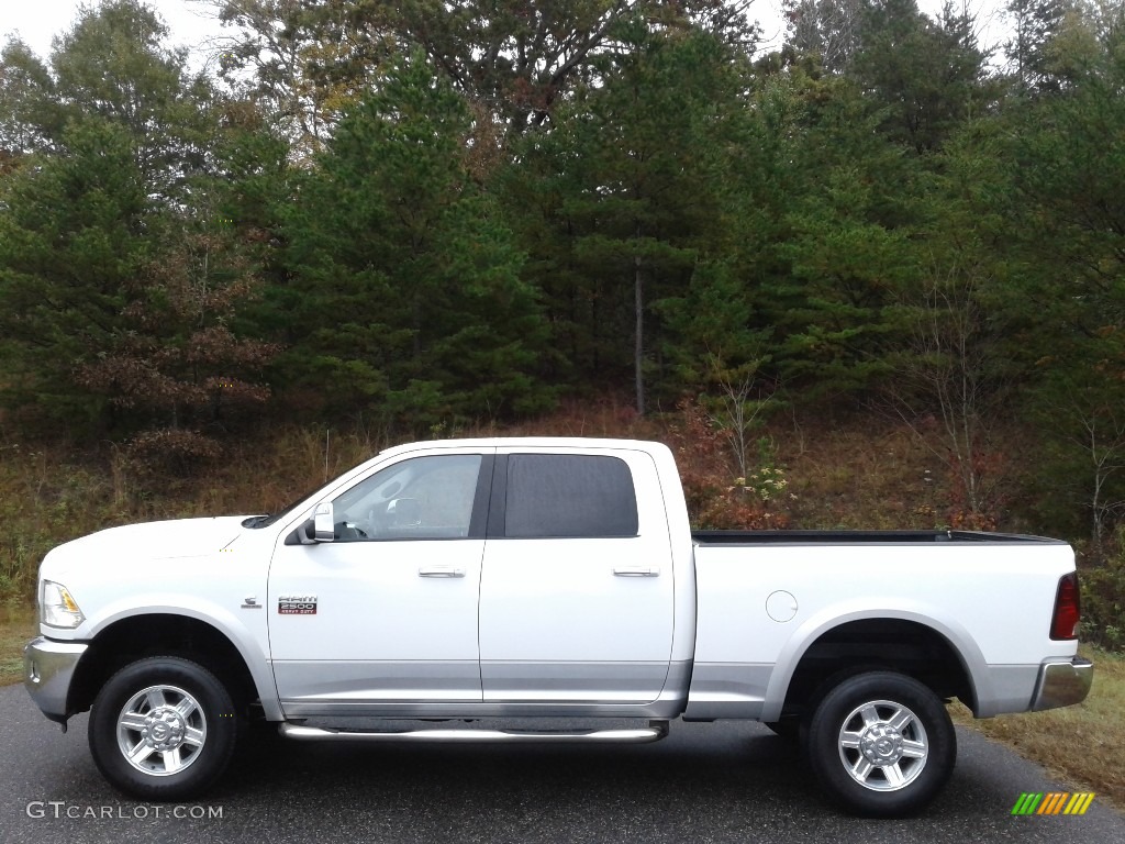
[[[62,735],[21,686],[0,689],[0,842],[1125,844],[1125,818],[1097,799],[1082,817],[1011,817],[1023,791],[1070,789],[960,728],[956,772],[932,808],[875,821],[827,806],[792,747],[757,724],[677,721],[664,742],[616,747],[273,738],[243,751],[215,793],[180,807],[115,792],[86,726],[73,718]]]

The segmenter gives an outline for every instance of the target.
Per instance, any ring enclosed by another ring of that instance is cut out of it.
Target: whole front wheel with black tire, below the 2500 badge
[[[98,770],[142,800],[201,794],[223,775],[237,737],[230,692],[207,668],[177,656],[126,665],[90,710],[90,753]],[[136,762],[124,747],[140,749]]]

